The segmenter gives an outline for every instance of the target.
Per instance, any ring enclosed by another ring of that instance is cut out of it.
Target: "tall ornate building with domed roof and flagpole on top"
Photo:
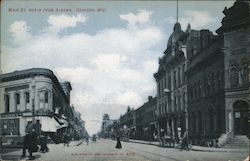
[[[177,22],[168,39],[167,49],[159,59],[157,82],[158,136],[162,133],[178,138],[187,129],[187,45],[195,43],[190,26],[184,32]],[[194,41],[194,42],[193,42]],[[193,49],[195,50],[195,49]],[[159,137],[158,137],[159,138]]]

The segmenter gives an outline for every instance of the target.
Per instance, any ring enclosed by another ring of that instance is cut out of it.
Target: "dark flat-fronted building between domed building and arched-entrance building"
[[[198,33],[197,52],[188,55],[189,136],[196,143],[219,137],[225,129],[223,41],[207,30]]]

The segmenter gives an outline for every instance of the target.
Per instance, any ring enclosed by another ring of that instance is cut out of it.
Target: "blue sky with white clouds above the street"
[[[179,1],[185,31],[215,33],[234,1]],[[70,81],[71,104],[89,134],[156,96],[159,57],[176,23],[176,1],[1,1],[1,70],[48,68]]]

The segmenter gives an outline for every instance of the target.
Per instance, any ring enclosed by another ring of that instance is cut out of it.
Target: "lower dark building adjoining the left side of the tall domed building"
[[[156,107],[156,97],[149,96],[148,101],[135,110],[136,131],[131,132],[132,138],[138,140],[154,140],[154,135],[157,136],[155,120]]]

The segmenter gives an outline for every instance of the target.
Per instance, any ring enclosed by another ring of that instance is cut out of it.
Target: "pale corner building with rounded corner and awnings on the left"
[[[20,143],[33,127],[54,139],[67,132],[69,95],[52,71],[43,68],[15,71],[0,75],[0,82],[3,144]],[[67,84],[69,94],[71,86]]]

